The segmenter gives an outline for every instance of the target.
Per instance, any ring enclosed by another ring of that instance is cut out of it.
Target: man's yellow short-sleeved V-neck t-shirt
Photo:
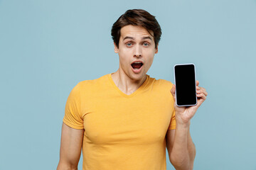
[[[71,91],[63,122],[84,129],[83,170],[166,170],[166,132],[176,128],[172,84],[146,75],[133,94],[111,74]]]

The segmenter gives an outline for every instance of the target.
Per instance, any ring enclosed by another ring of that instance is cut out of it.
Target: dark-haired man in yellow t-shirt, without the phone
[[[175,86],[146,72],[158,52],[161,28],[144,10],[128,10],[112,26],[119,69],[81,81],[65,106],[57,169],[166,169],[166,147],[176,169],[193,169],[196,148],[190,120],[206,90],[198,86],[198,104],[178,107]]]

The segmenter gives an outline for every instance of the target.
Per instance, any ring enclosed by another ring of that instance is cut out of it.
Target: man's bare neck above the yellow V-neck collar
[[[142,86],[146,80],[146,75],[144,75],[142,79],[131,79],[127,74],[118,69],[117,72],[112,74],[112,79],[120,91],[122,91],[124,94],[130,95],[133,94],[134,91],[137,91],[140,86]]]

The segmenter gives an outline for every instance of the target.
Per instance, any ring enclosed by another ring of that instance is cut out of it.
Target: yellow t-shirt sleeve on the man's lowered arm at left
[[[80,114],[81,98],[80,86],[76,85],[68,96],[65,105],[63,123],[74,129],[83,129],[83,120]]]

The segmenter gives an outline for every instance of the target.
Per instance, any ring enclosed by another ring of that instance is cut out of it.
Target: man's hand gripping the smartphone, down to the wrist
[[[174,96],[174,109],[175,109],[175,116],[176,116],[176,123],[178,124],[184,124],[189,125],[191,118],[193,118],[193,115],[195,115],[197,109],[203,101],[206,100],[206,96],[208,95],[206,92],[206,89],[203,87],[198,86],[199,81],[196,81],[196,96],[198,98],[198,103],[196,106],[190,106],[190,107],[178,107],[176,105],[176,96],[175,96],[175,89],[176,86],[174,85],[171,88],[171,94]]]

